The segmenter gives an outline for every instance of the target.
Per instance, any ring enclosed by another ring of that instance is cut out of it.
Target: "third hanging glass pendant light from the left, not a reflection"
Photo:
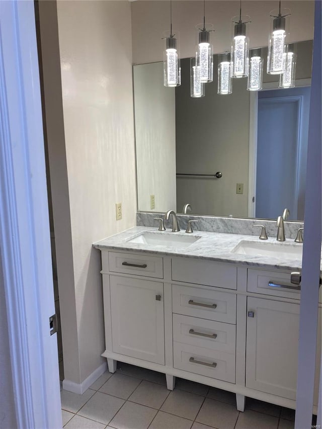
[[[249,38],[246,35],[248,15],[241,16],[241,0],[239,16],[232,18],[233,37],[231,43],[232,77],[248,76]]]

